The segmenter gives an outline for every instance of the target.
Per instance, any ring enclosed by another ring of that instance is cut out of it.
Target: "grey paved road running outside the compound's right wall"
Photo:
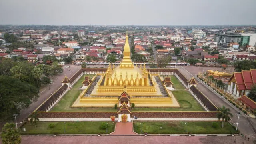
[[[178,70],[180,70],[180,72],[182,72],[182,74],[184,74],[184,76],[186,76],[188,79],[192,78],[192,76],[194,76],[194,78],[196,78],[197,74],[195,73],[195,68],[198,69],[198,67],[194,67],[194,66],[184,66],[184,67],[183,66],[176,66],[176,68],[178,68]],[[209,69],[211,69],[211,68],[209,68]],[[191,72],[194,72],[194,74],[192,74]],[[232,114],[233,114],[231,122],[234,122],[234,123],[237,122],[237,120],[238,120],[237,113],[241,112],[240,110],[238,110],[237,108],[234,108],[234,106],[232,106],[228,102],[225,102],[225,99],[223,97],[220,98],[219,96],[217,96],[213,91],[209,90],[200,81],[198,81],[197,88],[205,96],[207,96],[212,102],[214,102],[214,104],[216,104],[218,107],[225,106],[226,108],[229,108],[231,110]],[[247,118],[244,117],[243,115],[240,116],[240,118],[239,118],[238,129],[240,130],[240,132],[242,134],[248,134],[248,135],[256,136],[256,133],[252,129],[252,126],[248,122]]]

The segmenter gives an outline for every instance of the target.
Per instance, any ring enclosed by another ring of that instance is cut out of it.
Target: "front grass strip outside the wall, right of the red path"
[[[215,123],[215,124],[213,124]],[[187,128],[186,128],[187,125]],[[216,125],[214,128],[213,125]],[[221,122],[190,122],[185,124],[184,121],[172,122],[134,122],[134,132],[144,134],[235,134],[239,133],[228,122],[224,123],[224,128],[221,128]],[[162,129],[160,128],[162,127]],[[187,129],[187,133],[186,133]]]

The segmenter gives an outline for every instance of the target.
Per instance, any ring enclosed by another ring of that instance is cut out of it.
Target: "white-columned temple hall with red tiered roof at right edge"
[[[256,84],[256,69],[242,70],[242,72],[234,72],[230,80],[228,80],[228,91],[235,96],[248,94],[251,86]]]

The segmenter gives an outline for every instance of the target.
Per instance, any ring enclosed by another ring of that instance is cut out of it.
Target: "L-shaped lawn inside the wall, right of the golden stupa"
[[[180,108],[136,108],[135,104],[132,111],[205,111],[175,76],[171,76],[171,80],[175,88],[172,94],[178,100]]]

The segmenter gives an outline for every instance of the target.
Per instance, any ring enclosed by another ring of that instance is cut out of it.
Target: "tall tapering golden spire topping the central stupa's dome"
[[[130,51],[130,46],[129,46],[129,37],[128,33],[126,32],[126,37],[125,37],[125,44],[124,44],[124,58],[122,62],[120,63],[120,68],[133,68],[134,65],[131,60],[131,51]]]

